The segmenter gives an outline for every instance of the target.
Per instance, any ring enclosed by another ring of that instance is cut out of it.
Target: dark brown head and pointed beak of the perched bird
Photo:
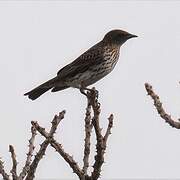
[[[111,42],[111,43],[116,43],[119,45],[122,45],[125,43],[128,39],[138,37],[134,34],[130,34],[126,31],[123,30],[112,30],[108,32],[105,36],[103,41]]]

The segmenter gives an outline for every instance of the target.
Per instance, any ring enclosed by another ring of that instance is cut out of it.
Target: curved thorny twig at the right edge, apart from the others
[[[146,88],[148,95],[150,95],[151,98],[153,99],[154,106],[155,106],[158,114],[161,116],[161,118],[163,118],[165,120],[165,122],[168,123],[170,126],[176,128],[176,129],[180,129],[180,122],[173,120],[171,118],[171,116],[166,113],[166,111],[164,110],[162,103],[159,99],[159,96],[153,91],[152,86],[148,83],[145,83],[145,88]]]

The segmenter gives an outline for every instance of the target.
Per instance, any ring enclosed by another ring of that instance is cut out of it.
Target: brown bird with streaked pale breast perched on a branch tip
[[[109,31],[100,42],[60,69],[54,78],[24,95],[35,100],[50,89],[51,92],[69,87],[78,88],[81,92],[89,90],[89,85],[96,83],[114,69],[121,46],[128,39],[135,37],[138,36],[120,29]]]

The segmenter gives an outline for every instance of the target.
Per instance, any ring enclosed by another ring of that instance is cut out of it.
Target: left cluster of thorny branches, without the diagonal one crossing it
[[[42,159],[42,157],[45,154],[45,151],[51,141],[51,138],[53,138],[53,135],[57,129],[57,126],[59,122],[64,118],[65,111],[62,111],[59,113],[59,116],[55,116],[53,121],[52,121],[52,126],[50,129],[50,132],[46,132],[46,140],[40,145],[40,149],[37,152],[37,154],[34,156],[34,159],[32,161],[32,156],[34,152],[34,141],[35,141],[35,136],[36,134],[36,127],[32,123],[31,127],[31,138],[29,140],[29,149],[27,153],[27,159],[25,162],[25,165],[20,172],[19,176],[17,175],[17,160],[16,160],[16,154],[14,151],[14,147],[12,145],[9,146],[9,151],[11,153],[11,159],[12,159],[12,169],[11,169],[11,174],[12,174],[12,179],[13,180],[32,180],[35,177],[35,172],[37,169],[37,166]],[[3,162],[0,160],[0,174],[3,176],[4,180],[10,180],[9,175],[5,172]]]

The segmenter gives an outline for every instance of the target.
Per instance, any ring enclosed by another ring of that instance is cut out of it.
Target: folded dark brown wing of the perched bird
[[[97,44],[79,56],[72,63],[59,70],[57,76],[60,78],[73,77],[77,73],[83,73],[92,66],[103,61],[103,48]]]

